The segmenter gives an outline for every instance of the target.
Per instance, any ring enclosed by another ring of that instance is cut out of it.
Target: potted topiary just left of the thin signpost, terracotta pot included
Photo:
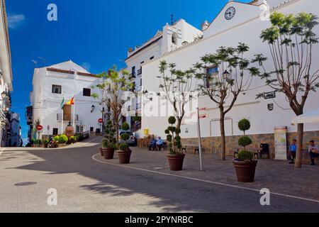
[[[169,117],[168,122],[171,126],[165,130],[165,133],[169,142],[169,154],[167,155],[169,168],[172,171],[181,171],[185,158],[185,155],[181,153],[181,137],[179,136],[181,129],[174,126],[177,122],[174,116]]]

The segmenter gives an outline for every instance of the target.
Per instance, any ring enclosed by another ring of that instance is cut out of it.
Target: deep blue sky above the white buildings
[[[128,48],[140,45],[174,18],[200,28],[213,21],[228,0],[7,0],[13,67],[12,111],[21,114],[27,137],[26,106],[38,67],[72,60],[92,73],[123,67]],[[242,1],[249,2],[249,0]],[[47,5],[58,21],[47,21]],[[40,57],[40,58],[39,58]],[[45,60],[43,60],[45,58]]]

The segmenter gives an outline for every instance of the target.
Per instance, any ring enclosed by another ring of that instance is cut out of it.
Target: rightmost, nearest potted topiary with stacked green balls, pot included
[[[242,119],[238,123],[240,131],[244,132],[244,136],[238,140],[238,145],[244,147],[244,150],[238,153],[238,158],[233,160],[238,182],[254,182],[254,174],[256,172],[257,160],[254,160],[254,154],[246,150],[248,145],[252,144],[252,140],[245,135],[245,131],[250,129],[250,121]]]

